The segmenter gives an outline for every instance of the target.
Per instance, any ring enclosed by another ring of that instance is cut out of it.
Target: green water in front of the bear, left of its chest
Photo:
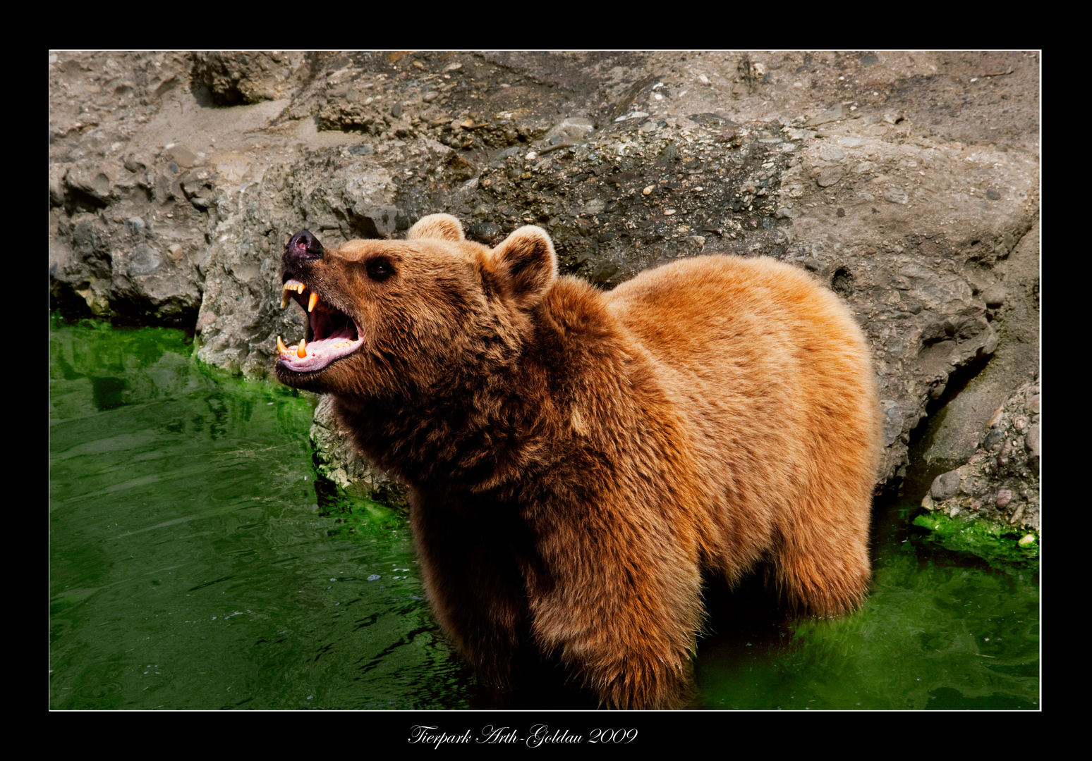
[[[307,399],[190,349],[51,323],[50,705],[465,704],[404,521],[317,491]]]

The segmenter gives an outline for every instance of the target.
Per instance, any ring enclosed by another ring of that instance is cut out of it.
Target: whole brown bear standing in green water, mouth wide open
[[[485,681],[538,654],[602,705],[678,706],[703,569],[765,565],[816,616],[865,595],[870,350],[803,271],[699,256],[601,292],[541,228],[489,250],[438,214],[404,241],[298,232],[283,282],[306,327],[277,378],[332,394],[408,485],[429,600]]]

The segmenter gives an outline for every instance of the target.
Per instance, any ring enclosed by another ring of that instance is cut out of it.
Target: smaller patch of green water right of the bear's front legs
[[[760,614],[704,640],[702,705],[1037,710],[1037,573],[925,544],[913,511],[877,516],[873,591],[855,614],[788,627]]]

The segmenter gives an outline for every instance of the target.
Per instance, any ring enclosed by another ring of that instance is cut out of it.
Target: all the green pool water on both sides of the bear
[[[405,520],[316,482],[311,401],[190,353],[50,323],[50,706],[480,706]],[[852,616],[783,621],[757,585],[711,602],[695,708],[1037,709],[1035,575],[910,517],[877,516]]]

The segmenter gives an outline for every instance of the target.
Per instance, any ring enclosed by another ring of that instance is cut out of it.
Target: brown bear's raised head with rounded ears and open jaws
[[[304,340],[277,338],[277,378],[343,398],[413,398],[476,366],[511,361],[557,278],[545,230],[521,227],[496,249],[434,214],[406,240],[324,249],[302,230],[285,245],[283,304],[304,309]]]

